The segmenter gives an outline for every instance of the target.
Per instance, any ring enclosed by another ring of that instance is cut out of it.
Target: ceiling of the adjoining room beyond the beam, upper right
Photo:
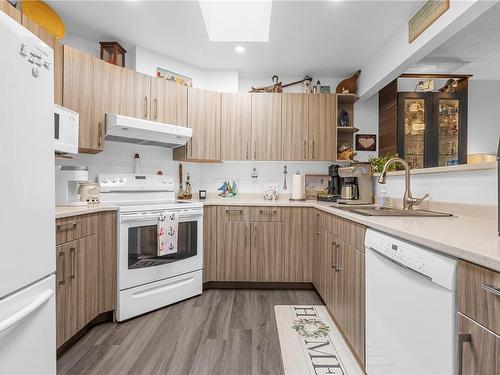
[[[500,4],[448,39],[411,72],[473,74],[500,79]]]

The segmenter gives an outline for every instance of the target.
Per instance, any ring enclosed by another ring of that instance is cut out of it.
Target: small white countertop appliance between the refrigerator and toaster
[[[56,205],[86,206],[88,203],[79,197],[80,183],[88,182],[87,167],[56,165]]]

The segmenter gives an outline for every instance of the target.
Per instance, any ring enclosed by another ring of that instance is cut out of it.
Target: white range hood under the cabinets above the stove
[[[174,148],[191,138],[193,129],[106,113],[106,140]]]

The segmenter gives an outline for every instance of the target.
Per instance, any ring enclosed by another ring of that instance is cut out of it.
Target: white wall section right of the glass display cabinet
[[[500,137],[500,81],[469,80],[468,153],[495,155]]]

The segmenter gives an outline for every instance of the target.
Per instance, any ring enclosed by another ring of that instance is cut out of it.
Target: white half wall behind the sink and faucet
[[[404,175],[387,176],[385,189],[388,196],[402,199]],[[383,185],[374,182],[376,195]],[[430,195],[434,202],[481,204],[495,206],[497,202],[497,171],[429,173],[411,176],[411,190],[414,197]]]

